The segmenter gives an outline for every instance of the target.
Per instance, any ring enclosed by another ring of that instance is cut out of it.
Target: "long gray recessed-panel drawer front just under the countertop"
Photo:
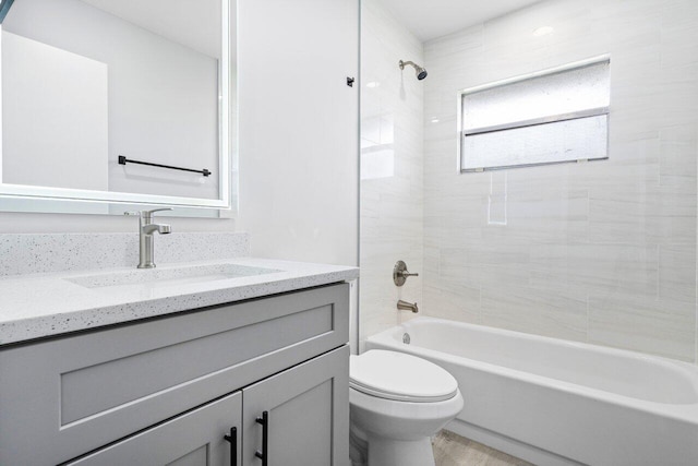
[[[347,343],[349,286],[0,350],[0,464],[56,464]]]

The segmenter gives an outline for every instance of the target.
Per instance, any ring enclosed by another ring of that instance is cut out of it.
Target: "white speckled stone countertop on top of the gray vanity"
[[[189,274],[178,275],[183,267]],[[252,275],[234,276],[240,270]],[[8,276],[0,278],[0,345],[358,277],[356,267],[250,258]]]

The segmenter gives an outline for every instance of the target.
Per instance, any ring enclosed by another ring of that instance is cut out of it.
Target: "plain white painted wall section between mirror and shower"
[[[240,228],[253,255],[358,261],[357,0],[239,1]]]

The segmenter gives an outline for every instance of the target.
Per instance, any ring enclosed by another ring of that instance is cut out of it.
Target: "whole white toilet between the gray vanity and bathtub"
[[[434,466],[431,435],[462,409],[458,382],[416,356],[373,349],[351,356],[353,466]]]

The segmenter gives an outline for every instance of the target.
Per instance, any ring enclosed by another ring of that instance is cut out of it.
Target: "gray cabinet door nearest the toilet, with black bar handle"
[[[244,466],[345,466],[349,462],[349,347],[243,389]],[[257,418],[264,418],[261,425]],[[266,461],[255,455],[264,453]]]

